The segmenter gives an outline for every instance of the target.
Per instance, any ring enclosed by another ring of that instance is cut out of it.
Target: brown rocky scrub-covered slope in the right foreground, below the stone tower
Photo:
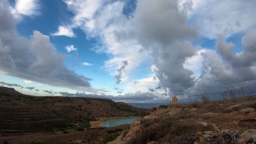
[[[256,97],[152,109],[115,141],[122,143],[256,143]]]

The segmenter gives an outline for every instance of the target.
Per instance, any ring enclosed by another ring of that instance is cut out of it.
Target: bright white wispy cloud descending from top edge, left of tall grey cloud
[[[142,50],[143,47],[138,44],[137,40],[120,39],[123,35],[127,37],[126,28],[131,25],[131,21],[123,14],[125,2],[103,0],[65,0],[63,2],[74,14],[69,27],[82,29],[89,38],[101,39],[102,44],[95,46],[94,50],[111,56],[104,65],[110,74],[117,75],[120,63],[128,61],[126,73],[121,77],[121,79],[127,79],[131,70],[146,61],[148,52]]]

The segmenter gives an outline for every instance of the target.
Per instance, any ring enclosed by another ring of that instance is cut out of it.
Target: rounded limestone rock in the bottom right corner
[[[245,131],[239,136],[239,143],[256,143],[256,129]]]

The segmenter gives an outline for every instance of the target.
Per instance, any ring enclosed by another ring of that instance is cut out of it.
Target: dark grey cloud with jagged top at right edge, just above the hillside
[[[243,51],[233,54],[235,44],[220,35],[215,51],[203,53],[203,68],[196,87],[187,93],[220,93],[242,86],[252,91],[256,86],[256,30],[249,28],[242,38]]]

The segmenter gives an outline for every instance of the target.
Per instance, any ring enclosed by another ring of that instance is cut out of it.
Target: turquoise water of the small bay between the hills
[[[110,119],[103,121],[101,127],[115,127],[122,124],[131,124],[133,121],[139,118],[119,118],[119,119]]]

